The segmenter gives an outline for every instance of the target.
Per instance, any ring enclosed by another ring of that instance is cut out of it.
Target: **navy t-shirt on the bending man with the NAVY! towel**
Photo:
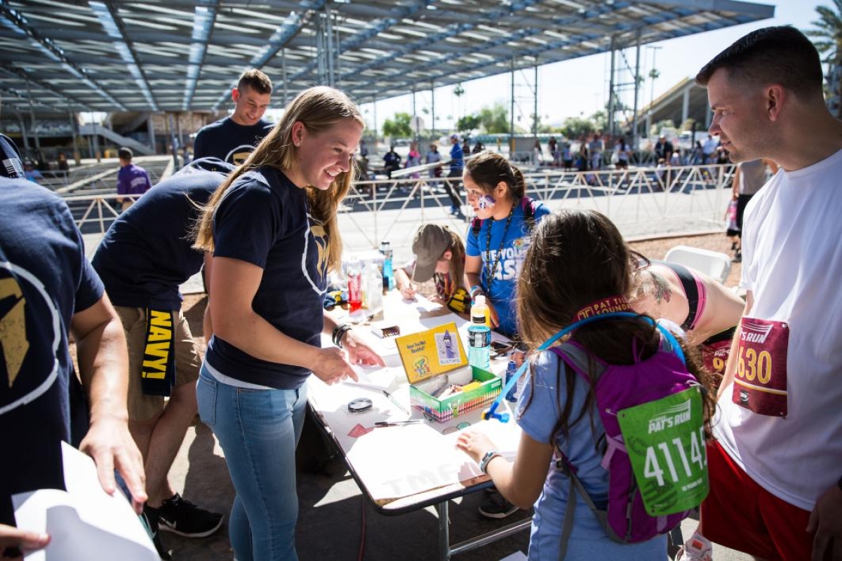
[[[168,177],[114,221],[93,256],[112,304],[179,310],[179,286],[204,263],[204,254],[191,247],[200,205],[234,168],[219,164],[220,172],[188,167]]]

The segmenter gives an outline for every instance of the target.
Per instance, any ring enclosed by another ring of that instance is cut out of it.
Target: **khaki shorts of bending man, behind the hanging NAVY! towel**
[[[147,343],[147,310],[115,306],[123,323],[129,347],[129,419],[146,421],[163,411],[163,395],[146,395],[141,389],[141,366]],[[175,384],[195,384],[202,359],[196,352],[193,334],[181,310],[173,311],[175,325]]]

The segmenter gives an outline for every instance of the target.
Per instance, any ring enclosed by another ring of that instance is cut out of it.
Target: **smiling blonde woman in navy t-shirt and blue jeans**
[[[353,363],[383,364],[322,310],[342,255],[336,209],[354,180],[363,127],[344,93],[300,93],[197,228],[196,246],[213,253],[214,336],[196,391],[237,491],[229,534],[239,561],[297,558],[295,449],[307,378],[335,384],[356,378]],[[322,330],[344,350],[322,348]]]

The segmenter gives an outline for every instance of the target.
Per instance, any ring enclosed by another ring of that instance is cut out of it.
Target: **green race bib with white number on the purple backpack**
[[[698,506],[709,490],[700,390],[629,407],[617,419],[649,516]]]

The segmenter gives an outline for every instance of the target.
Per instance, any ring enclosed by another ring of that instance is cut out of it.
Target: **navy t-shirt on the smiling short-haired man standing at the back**
[[[260,144],[274,124],[260,119],[256,124],[246,126],[237,124],[231,117],[226,117],[207,124],[193,141],[193,157],[214,157],[239,166],[246,161],[254,146]]]

